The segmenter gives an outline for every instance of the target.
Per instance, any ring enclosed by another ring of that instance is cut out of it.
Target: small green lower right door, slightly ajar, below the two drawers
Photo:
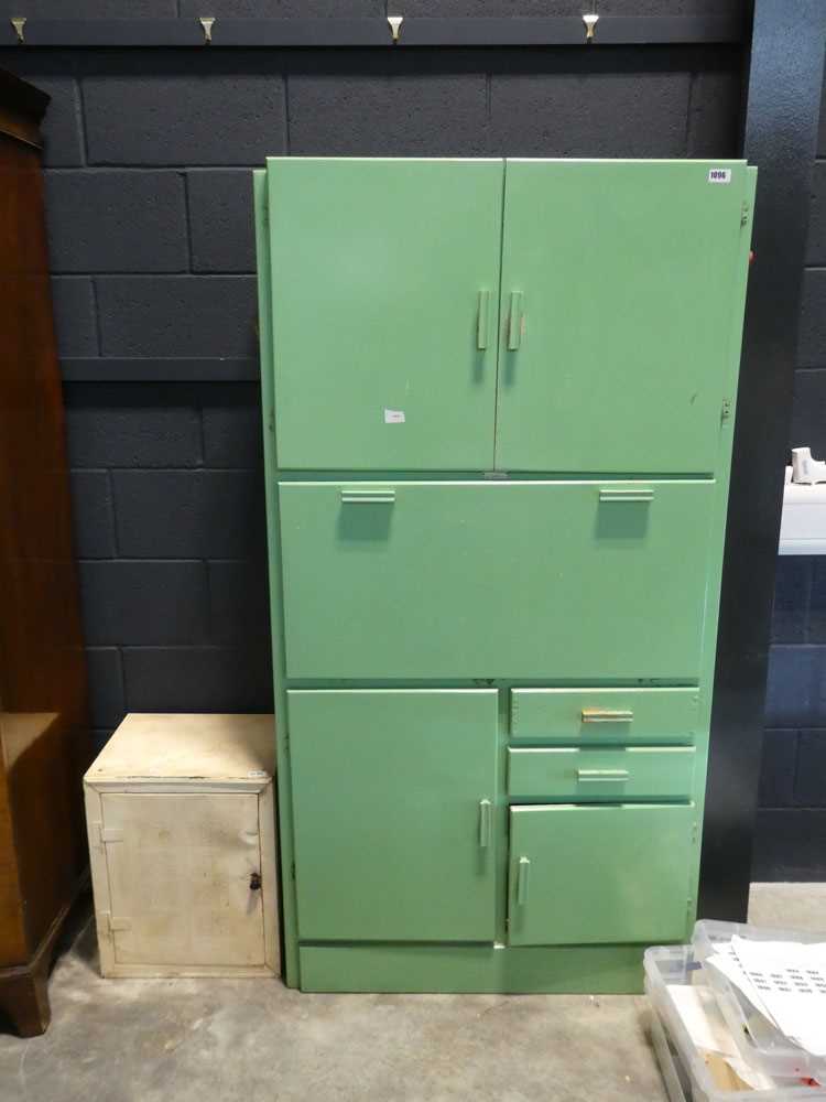
[[[511,808],[509,941],[682,940],[694,804]]]

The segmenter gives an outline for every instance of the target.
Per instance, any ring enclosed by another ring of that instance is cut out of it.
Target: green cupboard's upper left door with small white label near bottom
[[[268,161],[280,467],[492,466],[503,172]]]

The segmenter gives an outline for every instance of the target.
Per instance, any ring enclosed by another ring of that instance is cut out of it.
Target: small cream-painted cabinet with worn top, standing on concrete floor
[[[280,972],[272,715],[128,715],[84,778],[105,976]]]

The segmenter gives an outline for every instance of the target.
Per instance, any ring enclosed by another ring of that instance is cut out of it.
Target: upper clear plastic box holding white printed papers
[[[826,934],[703,920],[693,943],[743,1059],[826,1082]]]

